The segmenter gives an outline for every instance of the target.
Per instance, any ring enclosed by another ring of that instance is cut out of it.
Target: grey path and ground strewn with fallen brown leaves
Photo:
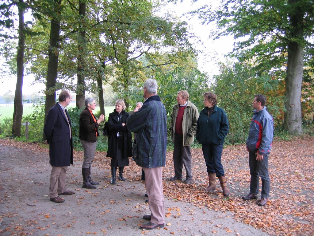
[[[314,137],[274,141],[269,158],[271,193],[263,207],[256,200],[241,199],[250,186],[245,145],[223,151],[229,197],[223,196],[218,180],[213,193],[204,192],[208,177],[201,149],[192,150],[192,184],[169,181],[174,173],[172,152],[167,152],[165,227],[142,231],[138,226],[149,209],[141,169],[133,161],[126,167],[127,181],[111,185],[110,160],[96,152],[92,173],[100,185],[89,190],[82,188],[83,153],[75,151],[67,186],[76,194],[62,196],[65,202],[56,204],[47,196],[51,171],[47,146],[0,140],[0,234],[314,235],[313,147]]]

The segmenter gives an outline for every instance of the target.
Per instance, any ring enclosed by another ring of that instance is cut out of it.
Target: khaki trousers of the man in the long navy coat
[[[58,194],[67,191],[67,187],[65,186],[67,170],[68,166],[52,166],[49,186],[50,198],[55,198]]]

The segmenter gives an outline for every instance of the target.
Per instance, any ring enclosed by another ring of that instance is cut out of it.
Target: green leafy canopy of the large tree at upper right
[[[230,55],[240,61],[254,59],[257,71],[279,70],[287,63],[288,42],[298,42],[304,46],[305,62],[312,61],[313,44],[311,36],[314,26],[313,0],[223,0],[215,9],[209,5],[194,11],[204,23],[215,22],[215,38],[232,34],[235,48]],[[291,34],[291,15],[304,14],[303,35],[297,38]]]

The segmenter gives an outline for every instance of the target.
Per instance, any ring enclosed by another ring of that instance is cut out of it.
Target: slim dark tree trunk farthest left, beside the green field
[[[23,0],[20,0],[20,3]],[[14,137],[21,136],[21,123],[23,116],[23,102],[22,102],[22,87],[24,78],[24,49],[25,49],[25,38],[24,38],[24,7],[18,4],[19,9],[19,47],[16,57],[17,63],[17,81],[14,95],[14,111],[13,111],[13,126],[12,134]]]

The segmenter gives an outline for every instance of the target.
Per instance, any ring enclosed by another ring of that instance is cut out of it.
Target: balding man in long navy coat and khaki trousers
[[[71,195],[75,192],[67,190],[65,186],[68,166],[73,164],[71,119],[66,109],[72,96],[63,90],[58,100],[48,111],[44,133],[49,144],[49,163],[52,166],[49,196],[51,201],[60,203],[64,199],[58,195]]]

